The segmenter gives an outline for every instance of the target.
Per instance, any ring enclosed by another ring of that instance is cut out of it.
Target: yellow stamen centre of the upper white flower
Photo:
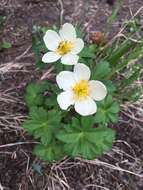
[[[57,52],[60,55],[65,55],[67,53],[69,53],[71,51],[71,49],[73,48],[73,43],[70,41],[62,41],[60,42],[58,48],[57,48]]]

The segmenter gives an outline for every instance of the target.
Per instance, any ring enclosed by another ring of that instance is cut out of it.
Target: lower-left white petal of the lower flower
[[[57,96],[57,101],[61,109],[66,110],[74,104],[73,94],[71,91],[62,92]]]

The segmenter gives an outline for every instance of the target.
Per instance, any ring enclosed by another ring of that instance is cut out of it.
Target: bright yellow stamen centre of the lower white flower
[[[86,80],[79,81],[74,87],[74,98],[77,100],[83,100],[89,96],[89,83]]]

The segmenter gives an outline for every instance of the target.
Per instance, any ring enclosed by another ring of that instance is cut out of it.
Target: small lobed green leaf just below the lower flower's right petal
[[[95,122],[106,125],[108,123],[116,123],[118,121],[118,112],[120,111],[119,104],[113,101],[111,95],[108,95],[104,100],[97,103],[97,113]]]

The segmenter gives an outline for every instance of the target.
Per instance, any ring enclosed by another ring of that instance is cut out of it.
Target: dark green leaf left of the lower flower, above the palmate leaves
[[[49,83],[42,81],[38,84],[29,84],[26,88],[25,100],[29,108],[32,106],[42,106],[44,103],[43,93],[49,89]]]

